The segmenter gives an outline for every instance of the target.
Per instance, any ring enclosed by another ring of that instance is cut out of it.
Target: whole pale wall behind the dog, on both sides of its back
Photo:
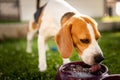
[[[41,5],[48,0],[41,0]],[[104,14],[104,0],[66,0],[80,13],[92,17],[100,17]],[[36,0],[20,0],[21,20],[29,20],[36,10]]]

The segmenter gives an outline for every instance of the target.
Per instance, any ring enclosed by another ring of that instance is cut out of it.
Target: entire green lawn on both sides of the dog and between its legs
[[[48,69],[38,70],[37,39],[33,42],[33,53],[26,53],[26,39],[9,39],[0,42],[0,80],[55,80],[62,60],[58,51],[53,50],[55,43],[48,41]],[[103,32],[99,44],[105,56],[103,64],[108,66],[109,73],[120,74],[120,32]],[[74,51],[72,61],[78,61]]]

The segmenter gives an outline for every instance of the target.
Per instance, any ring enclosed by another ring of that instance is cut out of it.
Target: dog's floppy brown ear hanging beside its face
[[[56,35],[58,50],[63,58],[69,58],[73,51],[73,41],[71,38],[72,24],[66,24]]]

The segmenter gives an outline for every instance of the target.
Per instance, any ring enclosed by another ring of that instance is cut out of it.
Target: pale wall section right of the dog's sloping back
[[[100,17],[104,14],[104,0],[66,0],[80,13],[92,17]]]

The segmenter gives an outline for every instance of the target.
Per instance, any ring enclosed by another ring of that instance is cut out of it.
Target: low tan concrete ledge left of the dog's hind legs
[[[27,23],[0,24],[0,39],[26,37]]]

